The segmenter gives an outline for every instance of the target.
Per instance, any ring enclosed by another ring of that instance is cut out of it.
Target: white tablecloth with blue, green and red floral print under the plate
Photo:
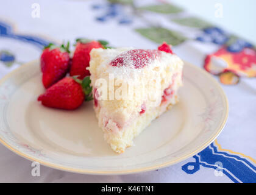
[[[90,176],[41,166],[0,145],[0,182],[256,182],[256,54],[243,38],[166,1],[2,1],[0,77],[40,57],[49,42],[85,37],[112,46],[156,48],[166,41],[183,60],[213,73],[230,105],[218,139],[199,154],[155,171]],[[232,85],[228,85],[232,84]]]

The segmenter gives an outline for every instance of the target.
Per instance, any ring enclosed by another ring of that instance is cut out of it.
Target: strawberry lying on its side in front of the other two
[[[90,77],[84,80],[65,77],[49,87],[37,100],[46,107],[74,110],[84,101],[93,99],[90,82]]]

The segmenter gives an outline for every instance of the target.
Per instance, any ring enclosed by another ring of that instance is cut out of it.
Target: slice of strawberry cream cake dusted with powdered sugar
[[[122,153],[177,103],[183,62],[166,43],[158,49],[92,49],[90,58],[99,127],[113,151]]]

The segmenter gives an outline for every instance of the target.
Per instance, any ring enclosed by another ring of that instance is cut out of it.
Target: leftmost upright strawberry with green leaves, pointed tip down
[[[66,76],[69,69],[69,43],[67,46],[57,47],[50,43],[44,48],[41,54],[41,72],[43,73],[43,85],[45,88],[50,87],[54,83]]]

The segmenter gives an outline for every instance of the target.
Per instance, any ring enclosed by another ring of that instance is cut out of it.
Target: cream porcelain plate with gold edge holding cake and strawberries
[[[85,174],[129,174],[172,165],[202,151],[219,135],[228,116],[218,82],[185,63],[180,102],[155,119],[124,154],[104,141],[92,102],[74,111],[43,107],[38,61],[0,82],[0,141],[42,165]]]

